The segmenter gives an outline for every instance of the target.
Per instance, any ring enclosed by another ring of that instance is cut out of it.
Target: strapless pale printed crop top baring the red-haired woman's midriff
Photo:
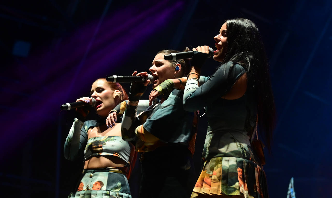
[[[130,151],[133,145],[120,136],[92,137],[84,150],[84,161],[94,156],[113,155],[129,162]]]

